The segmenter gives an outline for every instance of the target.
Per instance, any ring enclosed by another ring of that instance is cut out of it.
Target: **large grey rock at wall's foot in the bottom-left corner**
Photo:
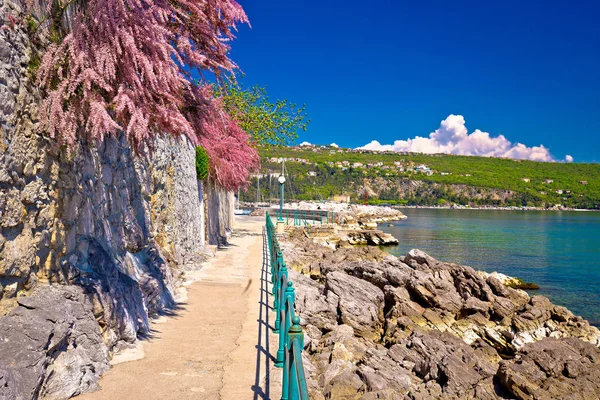
[[[18,303],[0,318],[0,398],[69,398],[96,389],[108,350],[82,291],[45,286]]]

